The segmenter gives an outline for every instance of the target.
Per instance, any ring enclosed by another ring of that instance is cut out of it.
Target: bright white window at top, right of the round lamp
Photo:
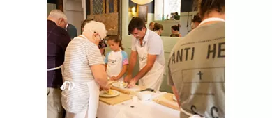
[[[155,0],[155,20],[171,19],[174,12],[181,12],[181,0]]]

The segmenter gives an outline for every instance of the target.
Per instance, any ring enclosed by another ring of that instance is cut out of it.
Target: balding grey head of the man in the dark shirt
[[[56,25],[61,28],[66,28],[66,25],[68,24],[67,17],[63,12],[61,12],[61,10],[51,10],[47,19],[55,22]]]

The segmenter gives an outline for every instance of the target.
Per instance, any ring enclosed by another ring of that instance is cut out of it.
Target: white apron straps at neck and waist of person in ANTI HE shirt
[[[218,21],[218,22],[225,22],[225,19],[220,19],[220,18],[217,18],[217,17],[210,17],[208,19],[204,19],[199,24],[199,26],[202,25],[202,24],[204,24],[204,23],[206,23],[206,22],[216,22],[216,21]],[[190,112],[186,112],[185,110],[183,110],[183,108],[181,108],[181,112],[183,112],[184,114],[190,116],[189,118],[205,118],[205,117],[200,117],[199,115],[193,115]]]

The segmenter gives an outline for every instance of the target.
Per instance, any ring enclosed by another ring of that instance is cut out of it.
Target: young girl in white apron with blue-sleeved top
[[[123,51],[119,36],[110,36],[107,44],[112,50],[105,57],[107,76],[112,81],[123,81],[123,74],[128,68],[128,54]]]

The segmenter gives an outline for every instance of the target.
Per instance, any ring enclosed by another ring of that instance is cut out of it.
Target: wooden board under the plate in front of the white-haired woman
[[[115,96],[112,98],[105,98],[105,97],[99,97],[99,101],[102,101],[104,103],[107,103],[108,105],[115,105],[117,103],[121,103],[123,101],[128,101],[132,99],[132,97],[128,94],[123,94],[120,92],[119,96]]]

